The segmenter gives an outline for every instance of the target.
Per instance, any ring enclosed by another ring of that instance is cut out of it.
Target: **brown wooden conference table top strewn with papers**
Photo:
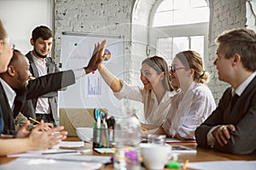
[[[78,137],[68,137],[66,139],[67,141],[79,141]],[[171,144],[172,145],[172,144]],[[207,150],[207,149],[201,149],[197,148],[195,143],[176,143],[175,145],[185,145],[190,148],[194,148],[197,150],[196,154],[180,154],[178,155],[177,162],[184,162],[186,160],[189,160],[189,162],[193,161],[237,161],[237,160],[246,160],[246,161],[255,161],[256,156],[253,155],[247,155],[247,156],[237,156],[237,155],[231,155],[231,154],[225,154],[222,152],[218,152],[215,150]],[[91,148],[91,144],[84,143],[84,148]],[[85,155],[99,155],[95,151],[91,151],[89,153],[86,153]],[[0,156],[0,164],[7,163],[9,161],[13,161],[16,158],[8,158],[6,156]],[[106,165],[102,167],[102,169],[113,169],[113,165]],[[167,169],[167,168],[166,168]],[[182,169],[182,168],[180,168]]]

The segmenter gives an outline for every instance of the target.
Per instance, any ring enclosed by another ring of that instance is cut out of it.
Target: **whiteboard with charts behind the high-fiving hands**
[[[125,40],[120,35],[62,32],[61,70],[79,69],[90,60],[95,43],[107,39],[110,57],[104,65],[119,79],[125,79]],[[106,52],[106,50],[105,50]],[[110,115],[119,115],[123,100],[116,99],[98,71],[87,74],[59,93],[59,108],[105,108]]]

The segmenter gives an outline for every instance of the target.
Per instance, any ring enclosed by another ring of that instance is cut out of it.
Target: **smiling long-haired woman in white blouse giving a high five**
[[[145,124],[160,126],[166,119],[174,91],[166,60],[153,56],[143,60],[141,81],[143,87],[128,84],[114,77],[104,65],[98,71],[117,99],[131,99],[143,103]]]

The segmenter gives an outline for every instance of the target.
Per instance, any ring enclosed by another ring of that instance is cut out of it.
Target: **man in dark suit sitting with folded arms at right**
[[[230,83],[218,108],[197,127],[200,147],[232,154],[256,154],[256,34],[248,29],[217,38],[218,79]]]

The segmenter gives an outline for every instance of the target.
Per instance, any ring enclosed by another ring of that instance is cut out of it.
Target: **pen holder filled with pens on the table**
[[[93,149],[109,148],[109,129],[105,127],[93,128]]]

